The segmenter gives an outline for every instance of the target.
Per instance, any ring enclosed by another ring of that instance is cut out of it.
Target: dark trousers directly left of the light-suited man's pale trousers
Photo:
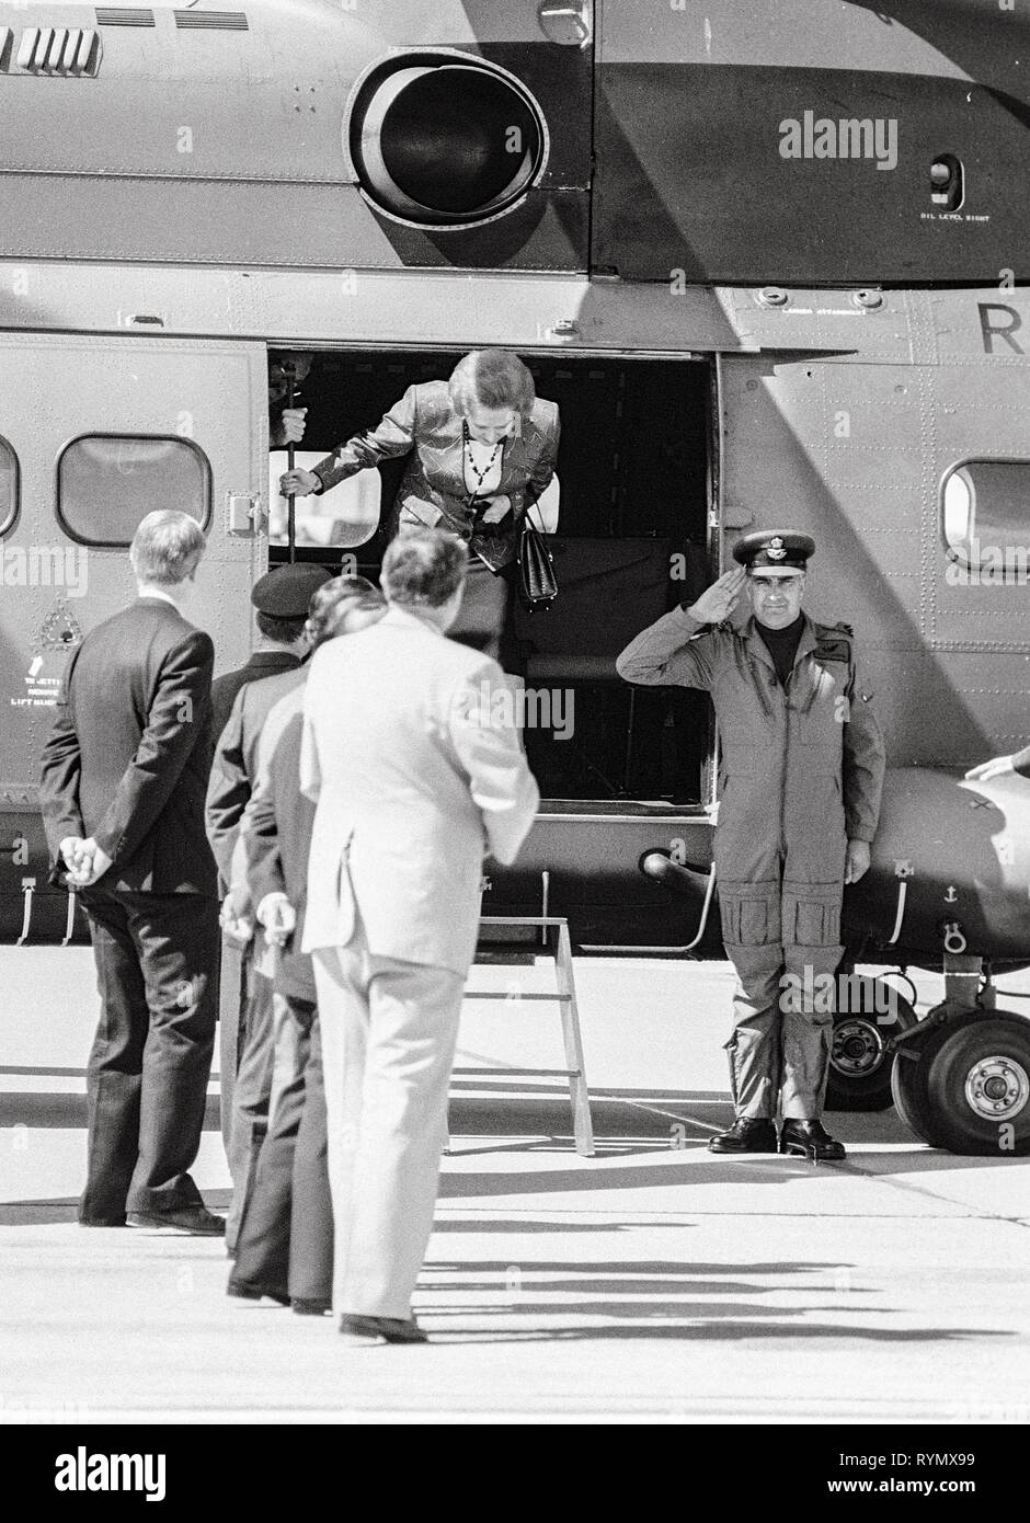
[[[332,1298],[332,1200],[315,1005],[276,995],[268,1135],[236,1240],[233,1284],[305,1301]]]

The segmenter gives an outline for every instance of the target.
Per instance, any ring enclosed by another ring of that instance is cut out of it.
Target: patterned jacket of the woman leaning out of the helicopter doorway
[[[501,480],[494,489],[494,495],[510,496],[512,512],[500,524],[475,530],[463,472],[462,419],[451,407],[446,381],[410,385],[376,428],[355,434],[314,471],[328,489],[366,466],[411,452],[393,504],[392,532],[422,524],[449,528],[497,571],[515,559],[526,509],[555,474],[559,434],[558,404],[536,398],[518,437],[504,440]]]

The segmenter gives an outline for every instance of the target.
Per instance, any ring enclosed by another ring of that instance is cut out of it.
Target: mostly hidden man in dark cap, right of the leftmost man
[[[267,641],[282,637],[279,653],[288,659],[283,664],[274,650],[264,652],[264,664],[258,664],[256,656],[251,656],[245,667],[218,678],[212,687],[215,699],[221,701],[235,684],[229,716],[221,734],[215,737],[215,760],[206,804],[207,838],[226,885],[232,877],[239,821],[253,787],[258,737],[270,708],[285,691],[282,684],[291,687],[302,678],[302,656],[308,653],[305,634],[308,605],[312,594],[328,580],[329,573],[325,567],[297,564],[276,567],[254,582],[250,599],[258,609],[258,627]],[[224,685],[216,691],[219,684]],[[232,906],[226,918],[235,920]],[[241,938],[235,940],[236,946],[241,946]],[[271,1046],[273,1014],[271,981],[254,969],[248,938],[242,941],[239,964],[239,1001],[224,1002],[219,1043],[222,1138],[233,1176],[233,1203],[226,1224],[226,1246],[230,1252],[236,1244],[258,1148],[268,1124],[265,1051]]]

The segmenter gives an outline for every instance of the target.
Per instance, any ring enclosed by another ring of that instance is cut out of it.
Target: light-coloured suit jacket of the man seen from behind
[[[317,801],[303,950],[346,946],[465,975],[483,854],[513,862],[539,803],[489,656],[392,606],[315,650],[300,786]]]

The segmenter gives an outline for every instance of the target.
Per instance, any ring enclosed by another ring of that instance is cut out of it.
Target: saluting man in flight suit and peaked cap
[[[737,972],[727,1042],[736,1118],[713,1153],[841,1159],[821,1124],[833,1017],[814,991],[835,976],[844,883],[868,868],[884,743],[847,624],[801,612],[815,542],[745,535],[739,562],[619,656],[629,682],[712,693],[719,722],[716,883]],[[742,592],[744,629],[728,623]]]

